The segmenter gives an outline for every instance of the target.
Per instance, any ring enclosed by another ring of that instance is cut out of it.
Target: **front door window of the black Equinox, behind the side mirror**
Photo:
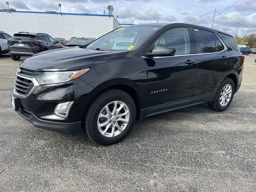
[[[175,55],[190,54],[188,28],[170,29],[154,43],[155,46],[168,46],[176,49]]]

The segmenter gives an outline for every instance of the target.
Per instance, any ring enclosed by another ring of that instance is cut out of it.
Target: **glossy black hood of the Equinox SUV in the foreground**
[[[26,58],[20,67],[37,71],[76,70],[91,67],[96,61],[123,57],[127,51],[99,51],[71,47],[40,52]]]

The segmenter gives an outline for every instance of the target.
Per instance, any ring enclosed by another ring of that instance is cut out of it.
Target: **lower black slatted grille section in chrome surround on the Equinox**
[[[34,84],[32,80],[16,76],[14,83],[14,93],[19,94],[21,96],[27,96],[33,87]]]

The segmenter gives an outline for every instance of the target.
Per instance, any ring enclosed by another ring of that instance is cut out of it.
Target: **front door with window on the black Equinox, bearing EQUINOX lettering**
[[[169,46],[176,48],[176,52],[174,56],[146,58],[148,114],[190,104],[196,76],[196,57],[190,54],[190,30],[172,28],[150,46]]]

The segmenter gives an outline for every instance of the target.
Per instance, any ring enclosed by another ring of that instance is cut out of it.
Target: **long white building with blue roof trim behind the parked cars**
[[[113,15],[0,10],[0,30],[48,33],[53,38],[98,38],[123,25]]]

